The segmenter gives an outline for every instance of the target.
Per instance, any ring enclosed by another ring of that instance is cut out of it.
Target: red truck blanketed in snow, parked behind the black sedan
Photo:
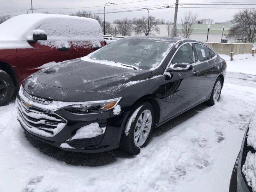
[[[88,55],[105,45],[98,21],[56,14],[24,14],[0,24],[0,106],[22,80],[48,62]]]

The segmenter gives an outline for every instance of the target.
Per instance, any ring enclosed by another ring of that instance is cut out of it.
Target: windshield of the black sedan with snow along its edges
[[[162,63],[172,45],[172,43],[154,40],[121,39],[92,53],[90,59],[96,62],[115,62],[148,70]]]

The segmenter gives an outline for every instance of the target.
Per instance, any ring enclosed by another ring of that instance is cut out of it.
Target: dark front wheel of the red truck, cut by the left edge
[[[0,106],[9,103],[14,92],[14,83],[12,78],[5,72],[0,70]]]

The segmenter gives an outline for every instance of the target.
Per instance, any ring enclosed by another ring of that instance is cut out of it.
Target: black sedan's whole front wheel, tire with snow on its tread
[[[148,118],[143,119],[144,115],[145,117],[148,116]],[[151,115],[151,125],[149,120],[150,115]],[[143,126],[144,120],[146,121]],[[142,126],[138,126],[137,122]],[[140,148],[146,146],[148,139],[150,138],[150,134],[152,132],[153,126],[154,126],[154,109],[152,105],[149,102],[144,102],[142,104],[137,105],[131,111],[130,116],[128,117],[128,120],[126,122],[126,126],[124,127],[124,132],[120,140],[120,148],[130,154],[138,154],[140,152]],[[138,136],[135,136],[136,133]]]

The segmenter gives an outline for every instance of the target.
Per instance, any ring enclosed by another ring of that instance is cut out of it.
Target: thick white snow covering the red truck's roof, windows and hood
[[[23,14],[0,24],[0,49],[32,48],[27,40],[33,39],[35,29],[47,34],[48,39],[38,41],[40,44],[56,48],[67,45],[67,42],[75,42],[74,46],[81,46],[81,42],[100,46],[104,41],[97,20],[57,14]]]

